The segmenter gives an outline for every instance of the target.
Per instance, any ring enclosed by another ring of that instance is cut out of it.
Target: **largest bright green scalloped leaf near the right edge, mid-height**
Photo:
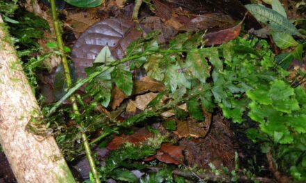
[[[282,80],[275,80],[269,91],[273,107],[281,112],[291,113],[299,110],[298,101],[294,98],[294,89]]]

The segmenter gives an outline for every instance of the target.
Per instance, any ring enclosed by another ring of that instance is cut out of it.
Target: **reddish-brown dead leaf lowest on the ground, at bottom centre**
[[[180,164],[184,161],[184,155],[182,153],[184,148],[181,146],[174,146],[171,143],[163,143],[161,148],[157,150],[156,155],[148,157],[145,161],[151,161],[153,159],[159,159],[159,161],[166,164]]]

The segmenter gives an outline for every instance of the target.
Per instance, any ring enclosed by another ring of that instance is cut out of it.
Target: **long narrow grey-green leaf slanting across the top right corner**
[[[301,36],[296,27],[286,17],[280,15],[280,13],[275,10],[257,4],[247,4],[245,8],[247,8],[258,21],[268,24],[275,32]]]

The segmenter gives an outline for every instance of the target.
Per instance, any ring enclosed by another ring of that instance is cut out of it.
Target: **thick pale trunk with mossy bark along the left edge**
[[[21,183],[75,182],[41,119],[40,107],[0,16],[0,143],[10,167]]]

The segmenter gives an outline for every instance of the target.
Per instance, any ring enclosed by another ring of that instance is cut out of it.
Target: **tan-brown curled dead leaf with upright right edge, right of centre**
[[[194,119],[188,119],[188,121],[177,121],[177,131],[175,131],[175,134],[177,134],[179,138],[205,137],[211,125],[211,114],[204,110],[203,114],[205,116],[205,121],[200,123]]]

